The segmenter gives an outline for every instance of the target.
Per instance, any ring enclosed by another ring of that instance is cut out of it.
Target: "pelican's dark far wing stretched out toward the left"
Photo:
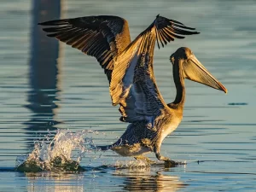
[[[128,22],[117,16],[87,16],[64,20],[50,20],[38,23],[49,32],[49,37],[59,39],[96,57],[104,68],[110,82],[115,57],[130,43]]]

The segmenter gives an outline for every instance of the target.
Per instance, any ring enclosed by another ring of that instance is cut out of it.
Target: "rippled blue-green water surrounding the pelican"
[[[85,153],[87,172],[14,172],[16,157],[34,141],[59,129],[93,130],[94,143],[113,143],[125,131],[118,108],[111,106],[108,82],[95,59],[61,46],[61,59],[32,72],[31,1],[3,0],[0,7],[0,191],[255,191],[256,190],[256,27],[254,1],[95,1],[63,2],[63,17],[119,15],[129,21],[131,37],[155,15],[196,27],[200,35],[176,40],[155,51],[154,71],[166,102],[175,96],[168,58],[181,46],[229,90],[224,95],[186,81],[187,100],[181,125],[164,141],[161,152],[186,166],[117,169],[113,152]],[[54,66],[53,68],[49,68]],[[47,79],[51,79],[47,81]],[[47,83],[48,82],[48,83]],[[44,88],[44,89],[43,89]],[[149,157],[154,158],[154,154]],[[102,166],[108,165],[108,166]]]

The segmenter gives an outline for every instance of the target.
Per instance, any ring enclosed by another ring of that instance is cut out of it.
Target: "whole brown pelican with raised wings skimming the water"
[[[160,146],[183,118],[184,79],[226,92],[189,48],[180,48],[170,57],[177,96],[172,103],[164,102],[154,79],[155,40],[160,48],[174,38],[199,33],[176,20],[157,15],[132,42],[127,21],[117,16],[51,20],[39,25],[51,26],[44,28],[49,37],[95,56],[104,68],[113,105],[119,104],[120,120],[130,124],[116,143],[98,147],[102,150],[110,148],[120,155],[145,160],[143,154],[154,152],[158,160],[173,165],[173,160],[160,155]]]

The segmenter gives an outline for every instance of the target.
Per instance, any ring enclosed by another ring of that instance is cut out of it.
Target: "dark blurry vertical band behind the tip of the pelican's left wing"
[[[58,59],[61,49],[58,41],[45,36],[38,22],[43,20],[60,19],[60,1],[33,1],[32,33],[31,33],[31,61],[30,85],[26,108],[32,111],[32,118],[25,122],[27,134],[32,135],[28,142],[29,148],[33,146],[34,136],[42,131],[54,131],[55,110],[59,108],[60,65]]]

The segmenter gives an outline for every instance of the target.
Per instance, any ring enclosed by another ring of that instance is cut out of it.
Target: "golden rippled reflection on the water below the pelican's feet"
[[[160,171],[153,173],[150,171],[150,168],[149,170],[119,170],[114,175],[125,177],[123,185],[125,191],[171,192],[186,186],[186,184],[179,180],[179,177],[164,175]]]

